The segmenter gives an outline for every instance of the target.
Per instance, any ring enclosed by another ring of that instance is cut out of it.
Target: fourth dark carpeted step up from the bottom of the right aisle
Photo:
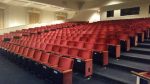
[[[150,55],[150,49],[147,49],[147,48],[132,47],[129,52]]]

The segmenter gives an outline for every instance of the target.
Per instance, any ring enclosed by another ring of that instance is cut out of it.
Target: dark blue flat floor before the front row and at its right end
[[[51,84],[50,80],[40,79],[29,71],[19,67],[14,62],[0,55],[0,84]],[[73,84],[113,84],[105,79],[93,76],[84,78],[79,74],[73,75]]]

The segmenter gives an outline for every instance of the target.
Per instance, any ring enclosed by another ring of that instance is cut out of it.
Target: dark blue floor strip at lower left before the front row
[[[49,84],[0,55],[0,84]]]

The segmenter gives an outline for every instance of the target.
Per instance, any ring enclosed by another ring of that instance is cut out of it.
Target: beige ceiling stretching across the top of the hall
[[[77,11],[139,0],[0,0],[1,3],[49,11]]]

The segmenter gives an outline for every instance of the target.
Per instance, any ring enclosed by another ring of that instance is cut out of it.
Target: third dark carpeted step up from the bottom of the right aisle
[[[139,61],[142,63],[150,64],[150,56],[149,55],[125,52],[125,53],[121,53],[121,58],[126,59],[126,60]]]

